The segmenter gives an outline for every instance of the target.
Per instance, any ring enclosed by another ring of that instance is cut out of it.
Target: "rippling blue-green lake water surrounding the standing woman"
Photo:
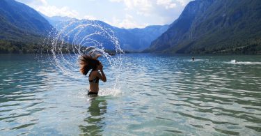
[[[191,57],[124,54],[114,90],[102,59],[90,98],[87,77],[0,55],[0,135],[261,135],[261,56]]]

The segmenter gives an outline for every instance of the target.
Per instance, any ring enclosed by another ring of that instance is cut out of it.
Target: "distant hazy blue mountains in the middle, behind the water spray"
[[[99,20],[77,20],[75,18],[70,17],[46,17],[45,18],[58,30],[65,28],[70,24],[70,29],[68,31],[76,28],[81,24],[93,24],[99,25],[106,29],[111,29],[114,35],[118,38],[120,47],[123,50],[127,50],[129,52],[140,52],[149,47],[152,40],[155,40],[157,37],[164,33],[168,29],[168,25],[155,25],[148,26],[143,29],[122,29],[118,27],[113,27],[110,24],[106,24],[105,22]],[[86,27],[84,33],[81,33],[81,36],[84,37],[90,33],[94,33],[94,29],[90,29]],[[73,36],[75,33],[72,33]],[[96,37],[96,40],[99,39]],[[100,41],[104,41],[104,39],[99,39]],[[111,43],[104,43],[104,47],[106,49],[111,49]],[[112,49],[111,49],[112,50]]]

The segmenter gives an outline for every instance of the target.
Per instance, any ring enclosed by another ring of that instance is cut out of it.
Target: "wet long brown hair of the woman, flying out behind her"
[[[88,54],[83,54],[79,57],[80,72],[83,75],[87,75],[89,70],[96,70],[97,66],[100,65],[100,61],[93,59]]]

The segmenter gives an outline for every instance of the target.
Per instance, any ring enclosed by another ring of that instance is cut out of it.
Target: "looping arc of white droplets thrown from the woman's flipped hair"
[[[93,29],[91,31],[94,32],[81,36],[81,33],[88,29]],[[92,38],[93,36],[102,36],[102,38],[105,38],[109,42],[113,43],[113,48],[116,50],[116,56],[110,56],[106,53],[103,43]],[[65,27],[63,27],[60,31],[56,31],[56,29],[54,29],[50,32],[48,40],[49,41],[47,43],[52,45],[50,50],[52,56],[49,56],[49,59],[54,62],[56,68],[60,69],[63,74],[69,75],[70,77],[82,78],[79,73],[79,64],[77,62],[81,54],[85,54],[90,49],[102,52],[106,60],[109,61],[109,65],[114,73],[113,76],[116,78],[114,80],[116,81],[116,84],[114,84],[113,88],[118,88],[117,83],[120,82],[120,72],[122,71],[121,54],[123,51],[120,48],[118,38],[116,38],[111,29],[105,28],[91,21],[90,23],[86,23],[84,21],[70,21],[70,23],[65,25]],[[70,46],[72,49],[70,49]],[[83,47],[85,47],[85,49],[83,49]],[[64,52],[64,50],[66,52]],[[72,52],[70,52],[71,50]]]

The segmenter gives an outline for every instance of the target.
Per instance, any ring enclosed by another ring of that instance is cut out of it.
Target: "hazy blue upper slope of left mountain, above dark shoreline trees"
[[[1,39],[24,40],[27,36],[38,37],[47,35],[52,28],[33,8],[14,0],[0,1],[0,18]]]

